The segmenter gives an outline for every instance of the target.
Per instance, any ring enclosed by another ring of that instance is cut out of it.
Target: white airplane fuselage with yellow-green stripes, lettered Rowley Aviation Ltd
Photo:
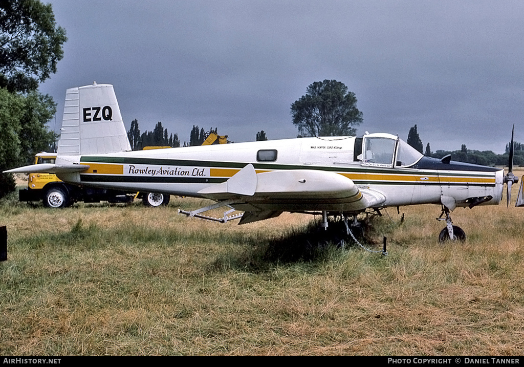
[[[355,205],[358,192],[383,197],[373,201],[377,208],[434,203],[453,210],[498,204],[504,181],[504,170],[423,157],[390,134],[58,156],[57,163],[89,165],[83,172],[60,174],[64,181],[213,200],[231,197],[213,193],[213,186],[251,164],[256,176],[266,178],[258,183],[264,187],[257,187],[253,195],[241,192],[237,196],[239,203],[249,196],[247,201],[256,203],[257,210],[358,212],[362,211]],[[293,172],[303,174],[303,181],[314,180],[313,189],[304,192],[306,186],[297,184],[280,190],[280,183],[290,186],[285,181]],[[354,186],[344,189],[339,176],[350,179]],[[243,205],[239,209],[246,210]]]

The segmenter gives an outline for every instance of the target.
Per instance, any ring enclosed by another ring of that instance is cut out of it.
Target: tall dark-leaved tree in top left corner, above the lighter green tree
[[[39,0],[0,0],[0,87],[35,91],[57,72],[65,30],[57,27],[51,4]]]

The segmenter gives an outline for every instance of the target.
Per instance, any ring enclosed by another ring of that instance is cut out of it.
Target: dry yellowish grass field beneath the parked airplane
[[[366,240],[382,256],[304,244],[306,215],[177,214],[202,204],[0,202],[0,353],[524,353],[524,208],[457,209],[467,241],[445,245],[438,206],[388,209]]]

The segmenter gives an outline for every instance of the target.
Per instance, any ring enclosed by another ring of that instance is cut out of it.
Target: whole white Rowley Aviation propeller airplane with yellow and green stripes
[[[505,183],[509,204],[518,178],[512,152],[507,175],[450,158],[424,157],[383,133],[133,152],[113,86],[93,83],[65,94],[56,163],[5,172],[48,172],[71,184],[208,198],[216,204],[179,212],[220,222],[240,218],[239,224],[300,212],[322,214],[327,227],[330,215],[356,221],[357,214],[386,207],[439,204],[446,221],[441,241],[464,240],[450,211],[498,204]],[[224,218],[201,214],[222,206],[232,209]],[[244,213],[227,217],[234,210]]]

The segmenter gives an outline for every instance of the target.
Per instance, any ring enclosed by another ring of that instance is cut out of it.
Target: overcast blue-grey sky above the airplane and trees
[[[115,87],[129,128],[158,121],[181,142],[193,125],[234,142],[297,136],[291,103],[335,79],[357,96],[358,134],[432,150],[503,153],[524,141],[522,1],[43,0],[69,40],[40,90]]]

